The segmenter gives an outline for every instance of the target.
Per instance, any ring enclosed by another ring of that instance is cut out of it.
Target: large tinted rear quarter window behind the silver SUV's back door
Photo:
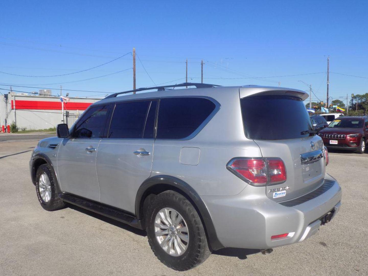
[[[215,109],[204,98],[167,98],[160,100],[158,139],[181,139],[191,135]]]

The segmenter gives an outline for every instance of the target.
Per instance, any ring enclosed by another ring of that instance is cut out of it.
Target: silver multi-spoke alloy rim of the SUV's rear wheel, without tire
[[[157,213],[155,234],[161,248],[171,256],[183,255],[188,248],[189,232],[187,223],[172,208],[163,208]]]

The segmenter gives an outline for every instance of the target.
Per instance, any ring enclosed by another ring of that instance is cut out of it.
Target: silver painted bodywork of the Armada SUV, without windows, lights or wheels
[[[323,149],[317,135],[307,138],[254,141],[244,134],[240,99],[252,95],[289,95],[302,100],[308,94],[296,89],[265,86],[234,86],[199,89],[170,89],[103,99],[94,105],[159,99],[206,97],[216,110],[194,135],[186,139],[59,139],[40,141],[32,156],[45,153],[57,167],[62,192],[80,195],[136,214],[139,187],[150,178],[172,176],[187,183],[204,202],[219,241],[225,247],[265,249],[296,243],[319,228],[321,216],[340,206],[341,188],[325,172],[325,161],[316,158],[302,163]],[[311,146],[314,144],[314,148]],[[47,148],[57,143],[56,149]],[[96,151],[86,152],[93,146]],[[146,156],[134,151],[145,150]],[[56,156],[57,154],[57,160]],[[254,187],[241,180],[226,164],[234,157],[278,157],[286,166],[287,180],[268,187]],[[317,156],[318,157],[318,156]],[[32,164],[32,160],[31,163]],[[32,170],[32,165],[31,165]],[[302,197],[320,187],[324,179],[335,184],[321,195],[296,206],[283,201]],[[272,198],[272,192],[289,187],[286,195]],[[335,212],[335,214],[336,214]],[[235,227],[233,227],[236,225]],[[273,235],[293,233],[271,240]]]

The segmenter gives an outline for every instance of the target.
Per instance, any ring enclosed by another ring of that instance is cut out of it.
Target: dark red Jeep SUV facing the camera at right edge
[[[328,148],[350,149],[364,153],[368,142],[368,116],[339,117],[319,131]]]

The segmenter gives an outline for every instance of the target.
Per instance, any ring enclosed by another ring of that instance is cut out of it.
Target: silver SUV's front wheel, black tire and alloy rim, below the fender
[[[36,193],[43,209],[55,211],[65,207],[56,192],[56,180],[49,164],[41,165],[36,173]]]

